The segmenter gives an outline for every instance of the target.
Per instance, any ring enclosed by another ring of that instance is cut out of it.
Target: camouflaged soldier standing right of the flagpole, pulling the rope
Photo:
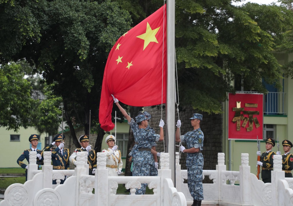
[[[191,126],[193,131],[189,131],[180,136],[181,121],[177,121],[176,141],[186,143],[187,149],[180,146],[180,151],[187,153],[186,167],[188,174],[188,188],[191,196],[193,197],[192,206],[200,206],[203,200],[203,187],[202,187],[202,169],[203,169],[203,150],[204,135],[200,129],[200,122],[202,121],[201,114],[193,114],[191,118]]]

